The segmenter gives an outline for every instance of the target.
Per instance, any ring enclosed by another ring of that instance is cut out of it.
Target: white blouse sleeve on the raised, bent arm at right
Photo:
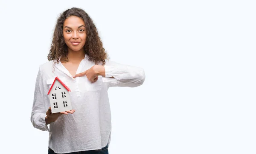
[[[145,81],[145,72],[141,67],[119,64],[109,60],[105,60],[105,62],[103,82],[107,82],[108,87],[138,87]]]

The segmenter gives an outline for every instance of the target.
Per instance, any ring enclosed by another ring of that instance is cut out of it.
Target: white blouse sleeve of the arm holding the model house
[[[39,68],[38,75],[35,82],[34,101],[33,101],[30,120],[35,128],[40,129],[42,131],[49,132],[49,128],[45,122],[47,109],[48,108],[46,108],[45,100],[44,100],[43,77],[42,77],[41,69]]]

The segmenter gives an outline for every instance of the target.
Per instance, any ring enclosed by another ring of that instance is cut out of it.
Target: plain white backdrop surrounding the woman
[[[84,9],[110,59],[143,67],[109,89],[110,154],[256,154],[253,0],[0,0],[1,154],[46,154],[30,122],[58,15]]]

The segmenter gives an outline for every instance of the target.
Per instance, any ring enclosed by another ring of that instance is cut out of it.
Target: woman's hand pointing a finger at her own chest
[[[73,78],[76,78],[79,76],[86,76],[89,81],[95,82],[98,80],[98,75],[102,72],[102,67],[103,66],[101,66],[101,65],[94,65],[90,69],[88,69],[82,73],[76,74],[75,76],[73,76]],[[104,67],[103,67],[103,69],[104,69]]]

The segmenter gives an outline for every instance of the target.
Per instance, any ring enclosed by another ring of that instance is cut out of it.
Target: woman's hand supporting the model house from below
[[[52,113],[52,108],[49,107],[47,112],[46,112],[46,117],[45,117],[45,123],[48,125],[49,123],[54,122],[55,120],[57,120],[61,115],[67,115],[69,113],[73,114],[75,112],[74,109],[70,110],[70,111],[64,111],[64,112],[58,112],[58,113]]]

